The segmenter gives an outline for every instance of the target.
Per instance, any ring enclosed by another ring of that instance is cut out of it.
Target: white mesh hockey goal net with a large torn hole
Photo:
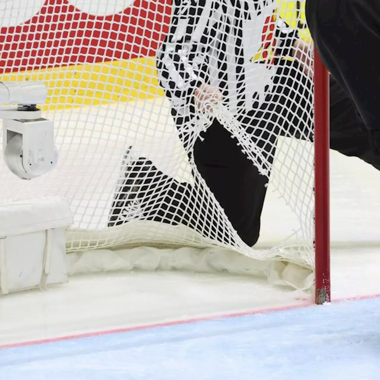
[[[179,3],[0,3],[1,80],[46,83],[41,106],[54,119],[60,155],[54,171],[31,181],[0,161],[1,201],[68,199],[72,263],[85,252],[89,262],[97,258],[97,269],[117,269],[122,256],[113,250],[139,256],[135,268],[199,263],[200,270],[261,272],[307,288],[315,269],[313,69],[323,70],[313,68],[304,2]],[[223,95],[212,114],[194,103],[202,81],[217,83]],[[183,116],[177,127],[173,107]],[[214,117],[269,177],[261,228],[269,238],[254,248],[239,237],[193,160],[194,144]],[[141,246],[155,253],[133,249]],[[91,266],[81,265],[77,270]]]

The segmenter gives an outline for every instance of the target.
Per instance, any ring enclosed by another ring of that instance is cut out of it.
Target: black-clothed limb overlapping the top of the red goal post
[[[328,70],[370,130],[380,130],[380,2],[307,0],[306,18]]]

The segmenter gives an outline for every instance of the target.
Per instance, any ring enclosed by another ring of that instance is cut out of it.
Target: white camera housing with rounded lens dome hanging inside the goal
[[[0,103],[17,104],[0,109],[3,119],[3,157],[9,170],[22,179],[39,177],[58,162],[54,124],[41,118],[37,103],[47,90],[41,82],[0,82]]]

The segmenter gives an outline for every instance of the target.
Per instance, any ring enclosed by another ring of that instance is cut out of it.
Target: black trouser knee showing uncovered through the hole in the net
[[[215,119],[198,140],[194,160],[239,236],[253,245],[260,232],[260,216],[268,179],[247,159],[230,133]]]

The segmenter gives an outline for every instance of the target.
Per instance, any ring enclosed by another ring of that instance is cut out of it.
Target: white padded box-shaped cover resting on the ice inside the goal
[[[0,294],[67,282],[65,199],[48,197],[0,205]]]

